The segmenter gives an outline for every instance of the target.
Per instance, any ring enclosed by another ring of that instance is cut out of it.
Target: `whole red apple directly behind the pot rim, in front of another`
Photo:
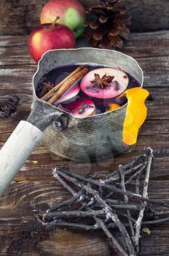
[[[71,29],[60,24],[42,24],[31,32],[28,48],[32,58],[38,62],[47,50],[75,48]]]

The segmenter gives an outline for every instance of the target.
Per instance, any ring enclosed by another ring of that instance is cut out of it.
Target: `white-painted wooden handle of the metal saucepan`
[[[28,121],[20,121],[0,151],[0,195],[42,140],[43,133]]]

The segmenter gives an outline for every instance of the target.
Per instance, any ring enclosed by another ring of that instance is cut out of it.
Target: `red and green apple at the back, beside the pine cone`
[[[79,37],[84,31],[85,11],[79,1],[50,0],[47,2],[41,12],[41,23],[53,23],[56,17],[59,18],[57,23],[68,26],[74,31],[75,37]]]

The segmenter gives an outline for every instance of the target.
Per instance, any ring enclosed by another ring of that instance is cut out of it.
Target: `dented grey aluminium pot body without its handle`
[[[49,111],[62,112],[60,118],[44,130],[44,145],[52,153],[66,159],[87,161],[94,159],[101,161],[114,157],[128,148],[122,142],[123,122],[127,104],[109,113],[101,113],[86,118],[75,118],[69,113],[49,106],[47,102],[36,97],[36,87],[39,80],[51,69],[67,64],[99,64],[119,67],[133,75],[140,85],[143,85],[143,72],[137,61],[115,50],[101,50],[96,48],[79,48],[73,50],[50,50],[44,54],[34,75],[34,101],[41,102],[41,108]],[[66,120],[64,120],[64,116]]]

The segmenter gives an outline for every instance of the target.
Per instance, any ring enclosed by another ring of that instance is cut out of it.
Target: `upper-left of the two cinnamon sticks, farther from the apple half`
[[[63,86],[63,83],[66,83],[68,80],[70,80],[74,75],[76,75],[78,72],[80,72],[82,69],[84,69],[84,66],[80,66],[77,69],[74,70],[74,72],[71,72],[70,75],[68,75],[65,79],[63,79],[60,83],[58,83],[55,87],[53,87],[50,91],[47,92],[47,94],[44,94],[44,96],[41,98],[44,101],[49,100],[53,94],[55,94],[58,89],[60,89],[61,86]]]

